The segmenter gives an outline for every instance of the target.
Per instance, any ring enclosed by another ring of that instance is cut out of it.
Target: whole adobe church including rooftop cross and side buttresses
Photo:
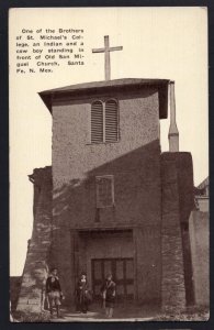
[[[38,94],[53,118],[53,161],[29,176],[34,224],[18,310],[42,309],[53,266],[69,306],[82,271],[94,301],[109,272],[119,304],[183,308],[194,300],[193,166],[191,154],[179,152],[174,82],[111,80],[116,48],[105,37],[105,48],[93,50],[105,54],[105,80]],[[169,152],[161,153],[168,105]]]

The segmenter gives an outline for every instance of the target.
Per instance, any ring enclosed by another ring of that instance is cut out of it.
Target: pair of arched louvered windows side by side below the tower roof
[[[91,106],[91,143],[119,141],[119,110],[115,100],[95,101]]]

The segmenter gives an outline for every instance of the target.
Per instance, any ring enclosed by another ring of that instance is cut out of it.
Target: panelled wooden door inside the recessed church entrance
[[[109,273],[112,274],[113,280],[116,283],[116,300],[134,299],[134,260],[122,257],[91,260],[94,300],[100,299],[100,289]]]

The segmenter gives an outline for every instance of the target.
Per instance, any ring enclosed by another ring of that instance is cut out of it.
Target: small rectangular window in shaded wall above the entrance
[[[106,208],[114,205],[114,177],[104,175],[95,177],[97,208]]]

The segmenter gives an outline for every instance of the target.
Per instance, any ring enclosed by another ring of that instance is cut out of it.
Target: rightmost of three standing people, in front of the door
[[[103,306],[105,307],[105,315],[108,318],[112,318],[116,296],[116,284],[112,280],[112,274],[108,275],[105,283],[101,287],[101,293]]]

